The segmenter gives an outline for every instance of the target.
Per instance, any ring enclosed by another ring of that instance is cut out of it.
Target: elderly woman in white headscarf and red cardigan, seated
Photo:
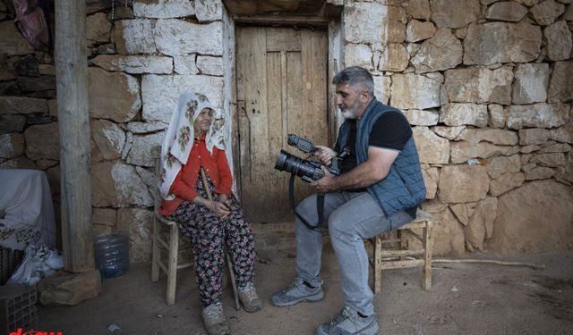
[[[245,311],[261,309],[254,288],[254,241],[231,192],[232,176],[220,122],[206,96],[179,98],[162,147],[160,213],[179,225],[192,242],[201,315],[209,334],[228,334],[221,305],[224,249],[234,264],[238,295]]]

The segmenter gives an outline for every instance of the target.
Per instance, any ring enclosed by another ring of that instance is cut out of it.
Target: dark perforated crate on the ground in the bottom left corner
[[[36,301],[34,286],[0,286],[0,334],[30,328],[38,322]]]

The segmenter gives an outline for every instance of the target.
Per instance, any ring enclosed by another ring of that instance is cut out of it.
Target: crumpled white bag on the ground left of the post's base
[[[29,245],[24,249],[24,257],[8,280],[11,284],[34,286],[42,278],[51,276],[64,267],[62,256],[56,249],[43,245]]]

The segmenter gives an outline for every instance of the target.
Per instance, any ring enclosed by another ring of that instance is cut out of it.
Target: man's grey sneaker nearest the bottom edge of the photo
[[[316,335],[377,335],[376,314],[362,317],[346,306],[330,322],[322,323],[316,329]]]

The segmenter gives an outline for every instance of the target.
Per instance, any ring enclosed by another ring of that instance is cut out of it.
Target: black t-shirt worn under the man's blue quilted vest
[[[349,155],[342,161],[340,170],[342,173],[349,172],[358,165],[355,152],[356,144],[356,121],[351,121],[351,127],[348,134],[348,143],[346,143],[346,150]],[[376,122],[372,125],[368,145],[372,147],[383,147],[390,150],[402,151],[408,139],[412,137],[412,128],[406,121],[404,115],[399,112],[386,112],[383,113]],[[334,148],[334,151],[341,152],[343,148]],[[353,189],[355,192],[363,192],[365,188]],[[416,208],[406,209],[406,213],[415,217]]]

